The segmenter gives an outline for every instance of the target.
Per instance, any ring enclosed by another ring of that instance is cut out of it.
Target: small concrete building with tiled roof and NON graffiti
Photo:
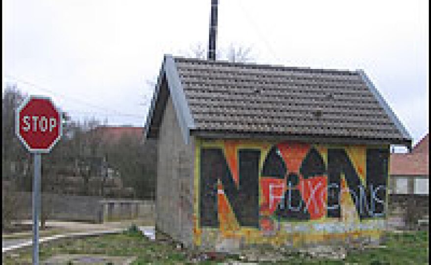
[[[411,146],[362,70],[170,55],[144,134],[158,141],[157,229],[216,251],[378,241],[389,145]]]

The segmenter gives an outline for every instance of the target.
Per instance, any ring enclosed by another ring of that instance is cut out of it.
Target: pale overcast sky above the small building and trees
[[[142,126],[163,55],[207,46],[211,0],[2,0],[2,80],[74,117]],[[219,0],[217,48],[362,68],[417,141],[429,130],[428,0]]]

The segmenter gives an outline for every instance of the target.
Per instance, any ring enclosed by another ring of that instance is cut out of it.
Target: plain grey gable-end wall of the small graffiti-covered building
[[[158,138],[156,225],[174,240],[192,244],[194,140],[187,145],[169,97]]]

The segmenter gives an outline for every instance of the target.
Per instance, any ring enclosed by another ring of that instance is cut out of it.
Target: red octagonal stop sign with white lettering
[[[16,132],[28,151],[48,153],[60,140],[62,114],[48,97],[30,96],[16,113]]]

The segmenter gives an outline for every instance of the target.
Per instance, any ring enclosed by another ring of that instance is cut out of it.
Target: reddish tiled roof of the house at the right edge
[[[429,176],[429,141],[428,134],[413,148],[411,153],[391,154],[391,175]]]

